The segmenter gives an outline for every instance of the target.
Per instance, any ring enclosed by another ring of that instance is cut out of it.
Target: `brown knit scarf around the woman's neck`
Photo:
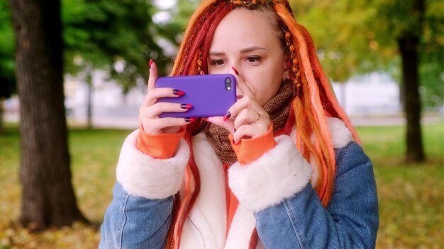
[[[264,110],[270,115],[270,120],[272,120],[274,133],[284,128],[293,97],[294,87],[292,81],[283,80],[277,94],[264,105]],[[206,125],[204,129],[209,143],[223,163],[231,165],[238,161],[233,148],[231,148],[230,140],[228,140],[230,132],[227,129],[212,123]]]

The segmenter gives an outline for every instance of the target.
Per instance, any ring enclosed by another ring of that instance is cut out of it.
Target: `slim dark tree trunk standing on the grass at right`
[[[402,81],[404,83],[404,112],[407,120],[406,160],[422,162],[426,159],[421,134],[421,101],[419,99],[418,37],[413,35],[398,40],[402,59]]]

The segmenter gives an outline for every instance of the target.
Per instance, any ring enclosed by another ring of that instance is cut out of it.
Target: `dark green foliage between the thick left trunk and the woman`
[[[88,64],[107,69],[126,92],[138,77],[148,79],[150,59],[163,57],[149,1],[65,0],[62,6],[68,72],[76,74]],[[122,69],[116,70],[117,62]]]

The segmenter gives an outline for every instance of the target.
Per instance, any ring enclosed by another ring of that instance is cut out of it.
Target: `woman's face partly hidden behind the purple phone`
[[[209,74],[233,73],[232,66],[237,69],[262,106],[276,95],[287,73],[287,56],[267,16],[247,8],[228,13],[216,28],[207,62]],[[242,98],[239,87],[237,92]]]

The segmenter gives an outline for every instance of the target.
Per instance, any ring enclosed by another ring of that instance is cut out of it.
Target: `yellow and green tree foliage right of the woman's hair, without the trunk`
[[[311,35],[326,73],[343,82],[370,71],[400,81],[397,40],[417,34],[421,45],[421,99],[443,105],[444,3],[426,1],[426,13],[411,11],[414,0],[295,0],[296,19]]]

